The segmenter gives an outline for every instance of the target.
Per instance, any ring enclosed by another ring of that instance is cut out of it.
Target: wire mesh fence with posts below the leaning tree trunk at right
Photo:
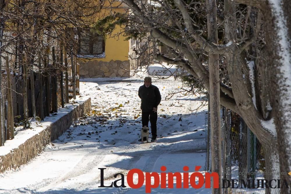
[[[205,170],[211,171],[211,126],[205,115],[208,131],[205,138],[207,154]],[[242,118],[230,110],[221,110],[222,179],[256,179],[265,171],[261,143]]]

